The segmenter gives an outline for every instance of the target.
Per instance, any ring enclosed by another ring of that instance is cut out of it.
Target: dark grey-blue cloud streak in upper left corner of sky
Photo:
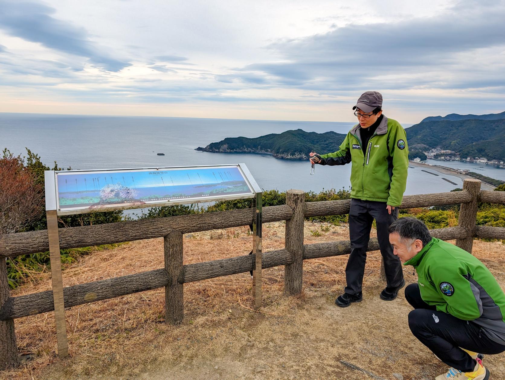
[[[51,7],[35,2],[0,0],[0,9],[0,28],[13,36],[86,57],[93,65],[108,71],[130,66],[100,51],[105,49],[94,44],[85,29],[52,17],[55,10]]]

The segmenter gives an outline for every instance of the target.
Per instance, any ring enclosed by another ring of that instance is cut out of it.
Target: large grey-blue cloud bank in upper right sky
[[[482,48],[500,51],[505,46],[504,17],[503,2],[484,7],[468,1],[432,18],[349,24],[323,34],[276,41],[268,48],[282,62],[255,63],[240,71],[263,75],[265,82],[278,86],[320,90],[367,84],[388,89],[501,86],[502,81],[495,80],[502,76],[503,62],[474,61]]]

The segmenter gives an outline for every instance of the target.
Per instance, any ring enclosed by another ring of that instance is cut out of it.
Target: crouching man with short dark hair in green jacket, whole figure
[[[467,251],[432,238],[416,218],[398,219],[389,232],[394,254],[418,276],[405,288],[412,334],[450,366],[435,380],[487,380],[480,354],[505,351],[505,294],[496,279]]]

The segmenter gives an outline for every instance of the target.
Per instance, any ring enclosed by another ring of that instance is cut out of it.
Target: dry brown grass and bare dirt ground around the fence
[[[266,224],[263,231],[265,250],[284,246],[284,223]],[[305,236],[306,243],[347,240],[348,230],[306,222]],[[186,235],[184,262],[247,254],[251,246],[247,227]],[[503,245],[477,241],[474,253],[503,286]],[[164,322],[163,289],[73,307],[66,313],[71,357],[65,360],[54,352],[53,313],[17,319],[18,345],[35,358],[0,378],[369,378],[339,360],[387,379],[394,379],[394,372],[406,380],[441,373],[444,365],[409,331],[405,298],[379,299],[384,287],[379,252],[367,260],[364,301],[346,309],[334,305],[345,285],[346,260],[306,260],[304,291],[298,297],[283,296],[283,267],[265,269],[261,312],[250,309],[248,273],[185,284],[185,318],[178,327]],[[64,285],[162,266],[162,239],[136,241],[83,256],[64,271]],[[407,283],[417,281],[412,267],[404,274]],[[47,289],[49,276],[41,274],[13,293]],[[494,373],[505,371],[503,354],[488,356],[486,362]]]

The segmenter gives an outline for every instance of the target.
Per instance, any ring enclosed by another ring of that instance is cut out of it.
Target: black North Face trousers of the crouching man
[[[489,339],[478,324],[436,311],[424,302],[418,284],[405,288],[405,298],[414,307],[409,313],[412,334],[448,366],[463,372],[474,370],[476,361],[461,348],[481,354],[505,351],[505,346]]]

